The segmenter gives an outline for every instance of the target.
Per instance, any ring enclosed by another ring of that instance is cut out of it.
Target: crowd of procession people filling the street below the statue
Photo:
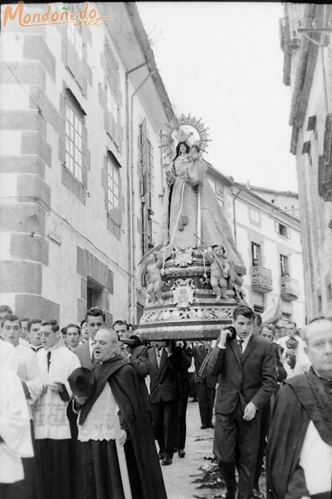
[[[95,307],[62,329],[5,305],[0,321],[0,499],[166,498],[190,394],[228,499],[263,499],[264,463],[270,499],[331,499],[329,319],[299,334],[238,306],[214,342],[149,347]]]

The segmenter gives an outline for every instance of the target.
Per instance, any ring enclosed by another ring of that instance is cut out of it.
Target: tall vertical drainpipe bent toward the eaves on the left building
[[[135,189],[133,185],[133,97],[138,93],[140,88],[144,85],[146,80],[155,72],[157,67],[155,66],[149,74],[146,75],[144,80],[140,83],[138,88],[131,95],[131,106],[130,106],[130,119],[129,119],[129,74],[133,71],[146,66],[149,62],[143,62],[139,66],[129,69],[125,73],[125,92],[126,92],[126,141],[127,141],[127,199],[128,199],[128,211],[127,211],[127,224],[128,224],[128,273],[129,273],[129,285],[128,285],[128,305],[129,305],[129,321],[133,324],[136,323],[136,268],[135,268],[135,249],[136,249],[136,234],[135,234]],[[130,123],[129,123],[130,121]]]

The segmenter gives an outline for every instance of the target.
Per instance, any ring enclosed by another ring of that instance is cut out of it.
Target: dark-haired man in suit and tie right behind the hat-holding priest
[[[73,350],[74,354],[78,356],[81,366],[90,369],[90,371],[93,370],[94,366],[94,337],[99,329],[105,328],[105,319],[105,313],[100,308],[96,306],[89,308],[86,313],[86,326],[90,334],[89,340],[78,345]]]

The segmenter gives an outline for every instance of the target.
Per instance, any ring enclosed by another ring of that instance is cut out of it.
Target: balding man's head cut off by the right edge
[[[332,379],[332,321],[318,319],[302,333],[312,367],[319,376]]]

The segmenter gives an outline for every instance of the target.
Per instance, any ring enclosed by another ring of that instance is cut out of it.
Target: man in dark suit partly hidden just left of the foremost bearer
[[[204,372],[204,362],[212,352],[212,341],[202,341],[192,348],[195,364],[196,393],[199,399],[199,414],[201,415],[201,429],[214,428],[212,424],[212,414],[214,411],[214,397],[216,395],[216,382],[218,376],[206,376]],[[203,367],[203,369],[202,369]]]

